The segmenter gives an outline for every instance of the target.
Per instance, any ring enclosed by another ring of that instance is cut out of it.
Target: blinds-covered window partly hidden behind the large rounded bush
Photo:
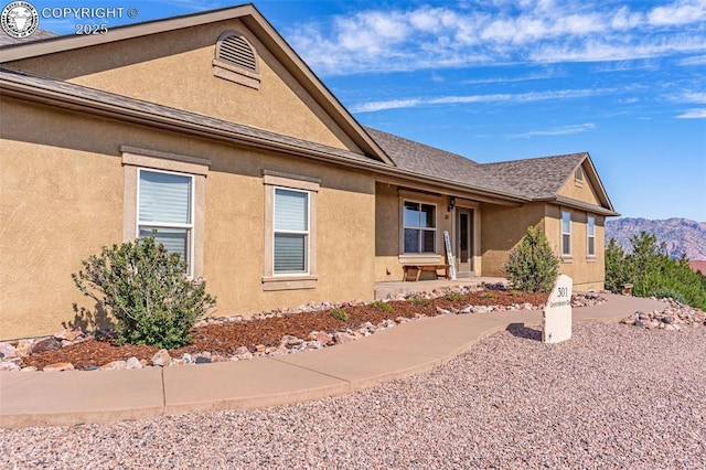
[[[157,231],[156,241],[191,263],[193,232],[193,177],[139,170],[138,236]],[[191,269],[191,268],[190,268]]]

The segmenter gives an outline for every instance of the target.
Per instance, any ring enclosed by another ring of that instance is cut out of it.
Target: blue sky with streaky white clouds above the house
[[[238,4],[32,3],[137,9],[109,25]],[[706,222],[706,0],[255,6],[363,125],[479,162],[588,151],[623,216]]]

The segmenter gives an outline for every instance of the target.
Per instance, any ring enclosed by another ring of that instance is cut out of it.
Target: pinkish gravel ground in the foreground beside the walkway
[[[706,468],[706,328],[538,339],[295,406],[0,429],[0,468]]]

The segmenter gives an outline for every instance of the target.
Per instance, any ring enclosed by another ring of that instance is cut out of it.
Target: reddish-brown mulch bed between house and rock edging
[[[188,346],[170,351],[172,357],[183,353],[211,353],[228,355],[239,346],[247,346],[255,351],[256,345],[277,346],[284,335],[306,339],[312,331],[333,333],[340,330],[356,329],[365,322],[377,324],[383,320],[398,317],[414,318],[417,313],[435,316],[436,308],[460,309],[464,306],[511,306],[515,303],[545,303],[547,293],[512,292],[512,291],[480,291],[463,295],[462,300],[450,301],[445,298],[432,299],[429,305],[414,301],[393,301],[389,305],[394,311],[386,313],[372,306],[346,307],[347,321],[333,318],[329,310],[312,313],[296,313],[274,317],[263,320],[246,320],[239,323],[210,324],[193,329],[194,341]],[[75,368],[100,366],[113,361],[126,361],[129,357],[150,361],[157,348],[136,346],[131,344],[115,345],[109,341],[86,340],[84,342],[62,348],[58,351],[47,351],[24,357],[22,366],[42,368],[50,364],[68,362]]]

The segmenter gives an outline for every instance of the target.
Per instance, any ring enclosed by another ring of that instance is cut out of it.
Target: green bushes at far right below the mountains
[[[688,259],[672,259],[654,234],[641,232],[630,238],[632,252],[625,254],[614,239],[606,248],[606,289],[619,292],[623,284],[633,285],[639,297],[672,297],[682,303],[706,310],[706,276],[692,270]]]

